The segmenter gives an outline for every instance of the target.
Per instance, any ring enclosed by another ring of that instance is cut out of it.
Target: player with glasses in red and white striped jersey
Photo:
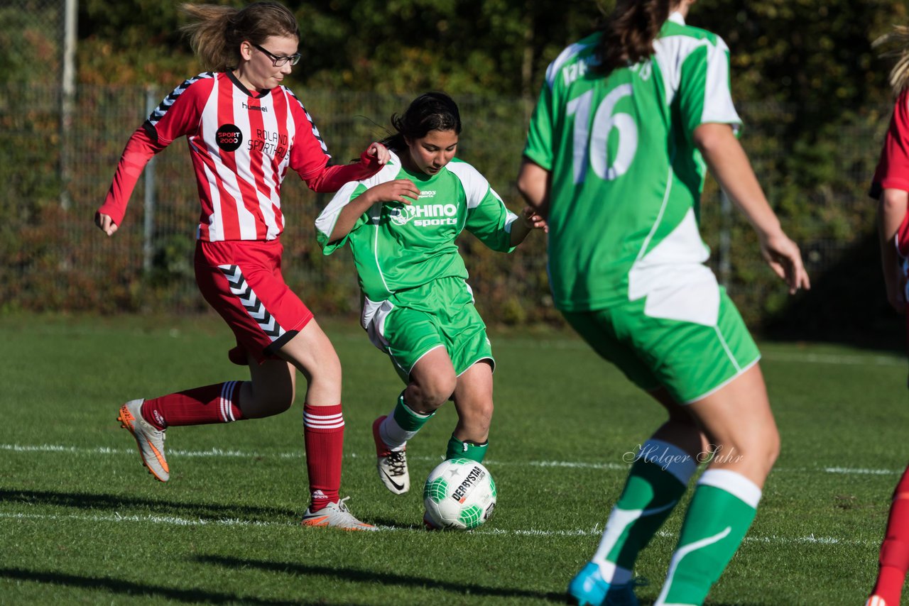
[[[281,274],[285,224],[281,182],[295,170],[316,192],[335,192],[387,162],[371,144],[360,162],[328,166],[325,144],[299,99],[282,81],[300,60],[295,16],[271,2],[182,6],[185,26],[210,72],[165,97],[130,137],[95,224],[112,235],[151,157],[186,136],[202,215],[195,248],[199,290],[234,331],[232,362],[248,364],[251,381],[228,381],[126,402],[117,417],[135,437],[148,470],[169,477],[165,430],[175,425],[233,422],[284,412],[295,398],[295,368],[304,374],[306,467],[312,502],[303,524],[375,530],[339,500],[344,418],[341,364],[313,313]]]

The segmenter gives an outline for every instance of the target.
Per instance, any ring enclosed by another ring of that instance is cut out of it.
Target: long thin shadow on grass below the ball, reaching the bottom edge
[[[564,593],[528,591],[508,587],[485,587],[470,583],[457,583],[440,581],[433,577],[420,577],[415,575],[395,574],[388,571],[363,571],[355,568],[340,568],[328,566],[309,566],[297,562],[245,560],[220,555],[203,555],[195,557],[195,561],[216,566],[224,566],[235,570],[255,568],[269,572],[283,572],[295,576],[324,575],[336,577],[339,581],[360,581],[368,583],[381,583],[383,585],[405,585],[408,587],[425,587],[427,589],[442,589],[453,592],[458,598],[464,594],[497,598],[534,598],[548,600],[555,603],[567,603]],[[454,603],[457,602],[453,598]]]

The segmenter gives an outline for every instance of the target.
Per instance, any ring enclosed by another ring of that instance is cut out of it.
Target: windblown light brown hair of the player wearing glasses
[[[180,9],[192,19],[180,29],[189,35],[203,67],[213,72],[226,72],[240,65],[240,45],[244,40],[261,45],[270,35],[300,39],[296,17],[276,2],[254,2],[239,10],[186,3]]]

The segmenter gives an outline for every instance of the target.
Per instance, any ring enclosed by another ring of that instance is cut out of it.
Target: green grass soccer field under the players
[[[898,330],[898,327],[894,327]],[[547,604],[593,553],[624,452],[660,409],[572,334],[493,334],[494,518],[421,529],[421,479],[454,426],[446,406],[410,444],[415,489],[375,477],[370,425],[401,385],[354,323],[328,323],[345,368],[342,493],[376,533],[303,529],[302,407],[168,432],[154,482],[115,422],[127,399],[242,379],[205,316],[0,317],[0,603]],[[710,604],[862,604],[909,428],[900,356],[764,343],[783,452]],[[681,508],[680,508],[681,509]],[[681,524],[644,551],[651,603]]]

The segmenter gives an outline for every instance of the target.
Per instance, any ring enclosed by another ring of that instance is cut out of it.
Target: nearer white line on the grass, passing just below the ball
[[[249,520],[238,520],[236,518],[223,519],[205,519],[205,518],[180,518],[173,515],[121,515],[112,513],[107,515],[58,515],[44,513],[4,513],[0,512],[0,520],[37,520],[51,522],[148,522],[153,524],[166,524],[170,526],[238,526],[238,527],[288,527],[294,528],[299,524],[297,522],[258,522]],[[423,531],[422,527],[401,528],[397,526],[380,526],[379,531],[399,532],[399,531]],[[532,537],[586,537],[599,536],[603,531],[599,526],[594,526],[590,530],[577,529],[574,531],[542,531],[542,530],[514,530],[508,531],[503,529],[491,528],[471,531],[471,534],[481,535],[505,535],[505,536],[532,536]],[[657,536],[674,539],[674,532],[659,531]],[[759,542],[768,544],[819,544],[819,545],[877,545],[880,541],[869,540],[847,540],[838,537],[816,537],[809,534],[805,537],[781,537],[771,534],[764,537],[746,536],[745,542]]]

